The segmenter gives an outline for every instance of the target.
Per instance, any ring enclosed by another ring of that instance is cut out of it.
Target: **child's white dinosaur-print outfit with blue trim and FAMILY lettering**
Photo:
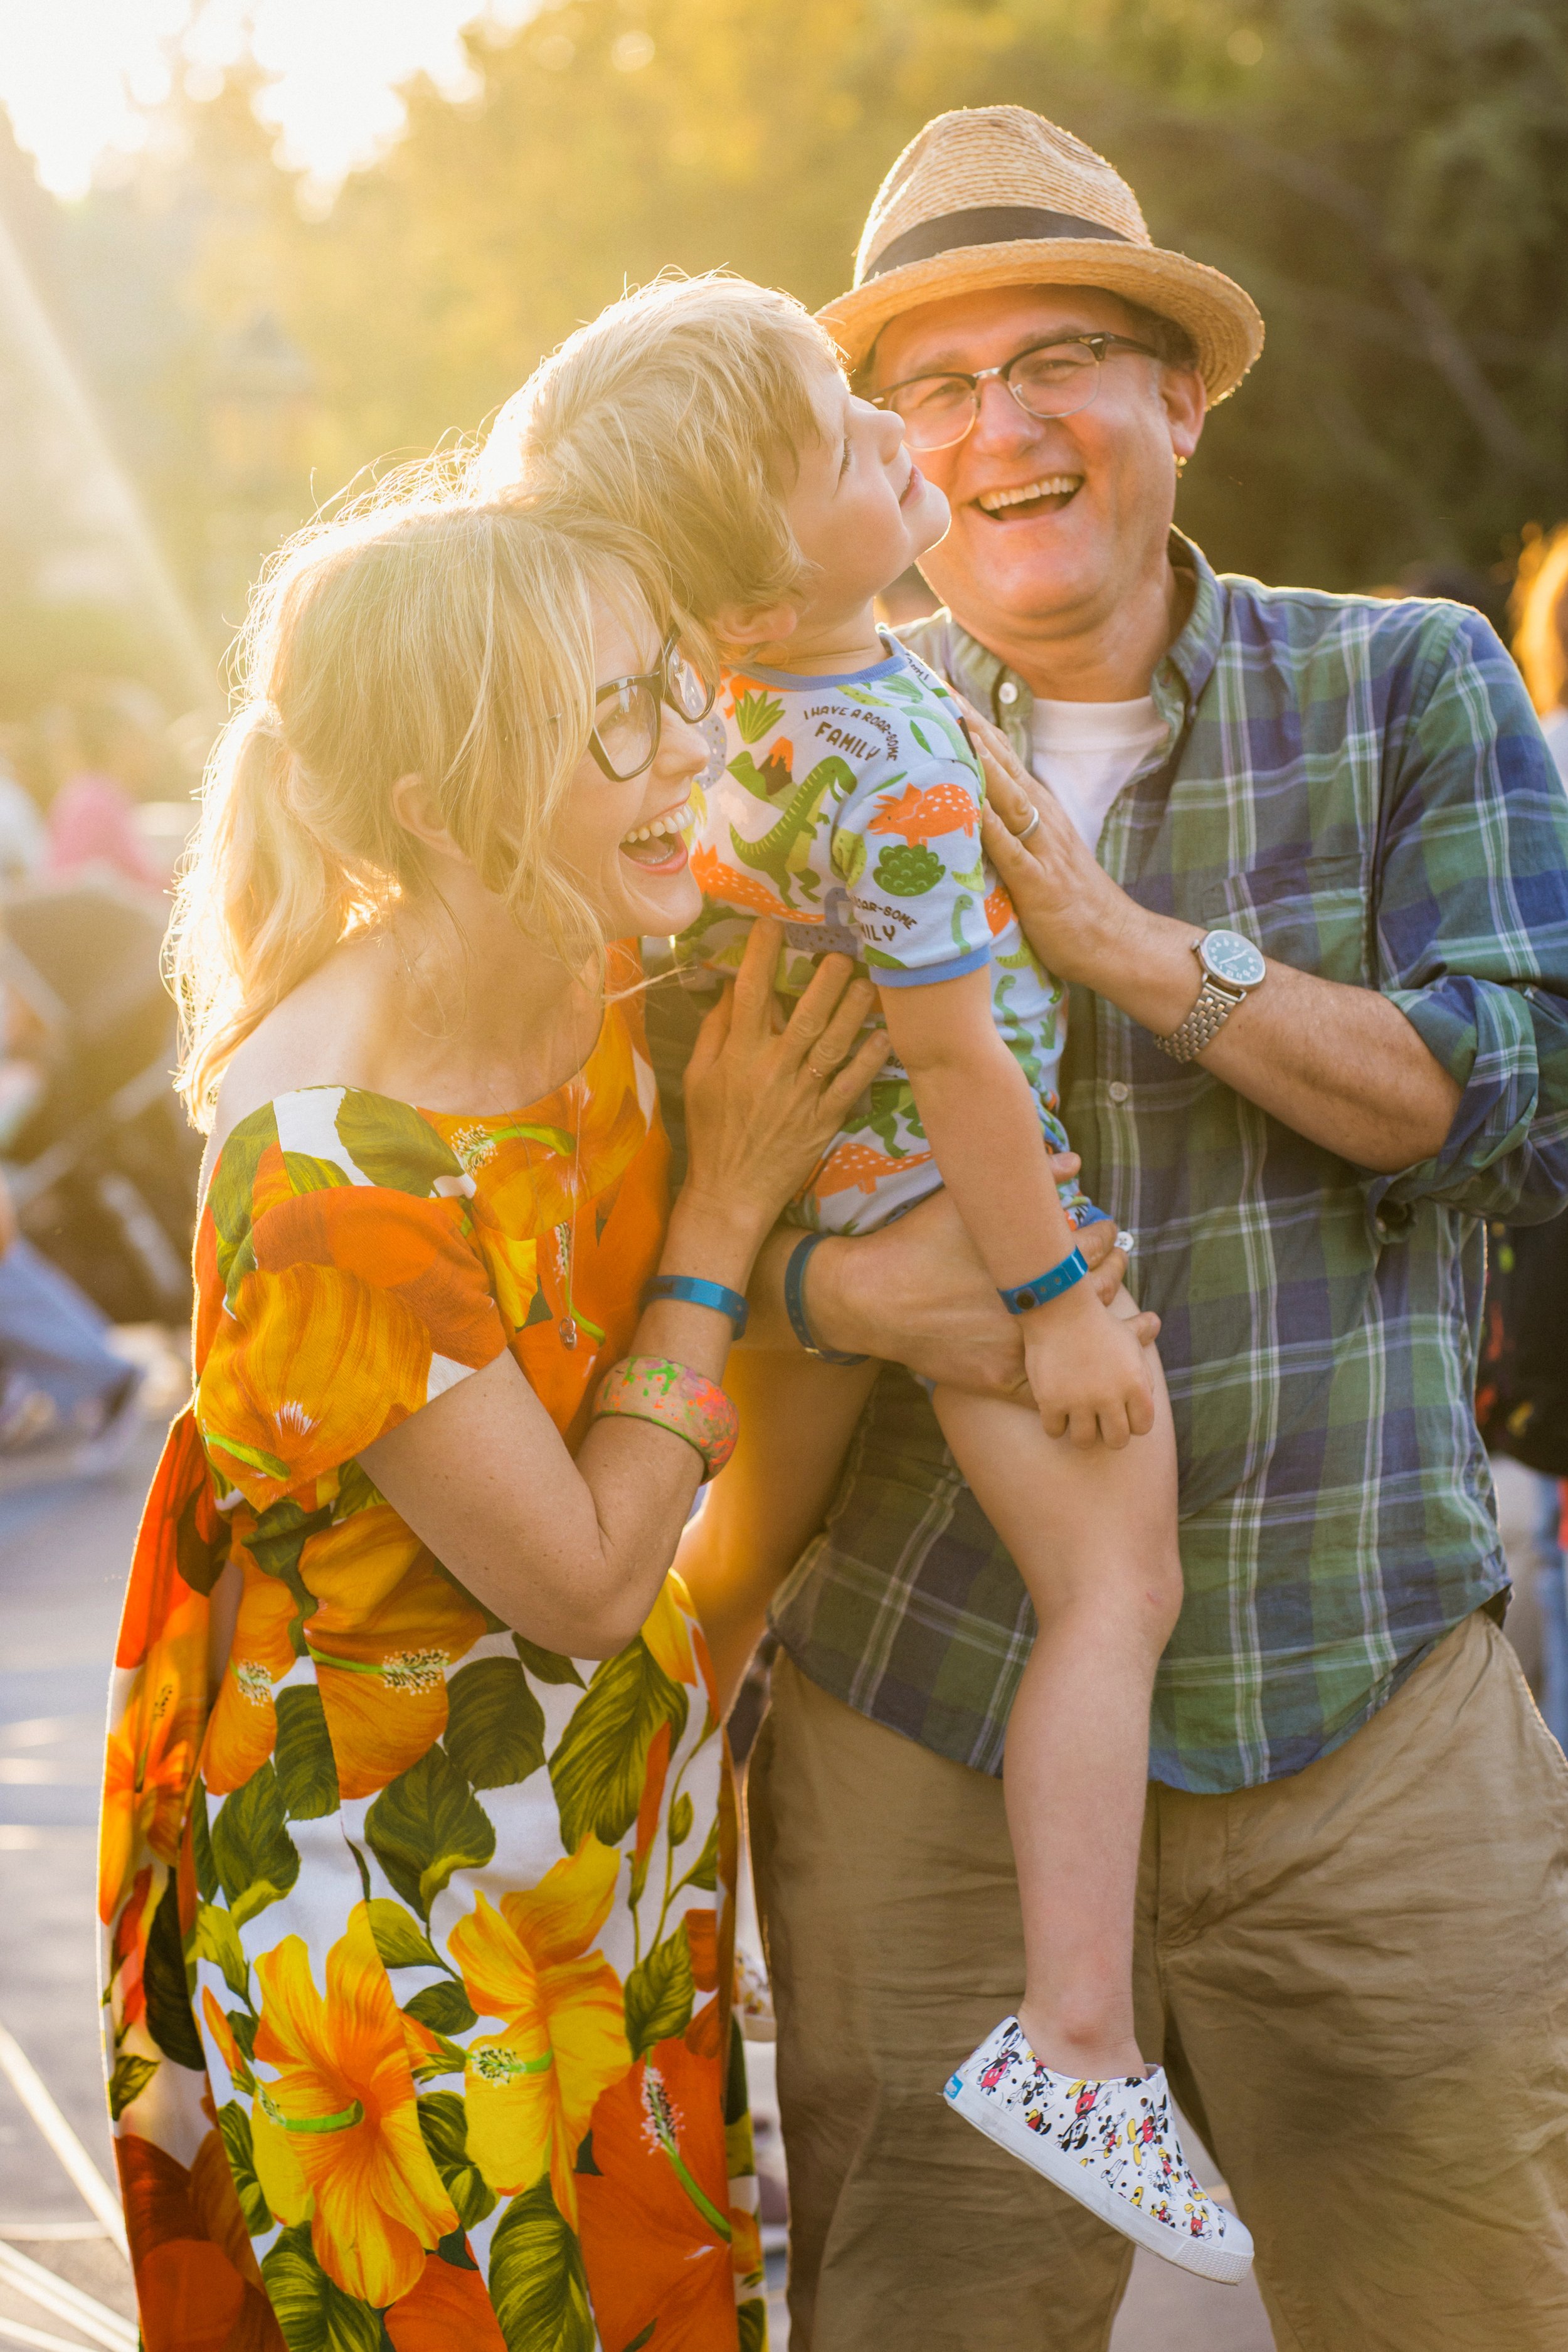
[[[778,985],[853,955],[879,988],[957,981],[990,964],[997,1028],[1023,1065],[1051,1150],[1065,997],[980,849],[985,779],[947,687],[891,637],[849,677],[733,670],[696,790],[691,870],[703,913],[677,941],[693,983],[733,971],[759,915],[785,927]],[[719,743],[719,724],[724,741]],[[872,1232],[940,1185],[910,1080],[889,1061],[790,1218]],[[1103,1216],[1060,1188],[1074,1225]]]

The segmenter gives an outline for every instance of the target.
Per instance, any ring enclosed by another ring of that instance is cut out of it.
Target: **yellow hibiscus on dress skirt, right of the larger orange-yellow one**
[[[548,2169],[557,2211],[576,2227],[574,2161],[599,2093],[630,2072],[625,1994],[599,1952],[621,1856],[585,1837],[527,1893],[480,1896],[447,1950],[468,1999],[501,2034],[468,2044],[468,2154],[505,2197]]]

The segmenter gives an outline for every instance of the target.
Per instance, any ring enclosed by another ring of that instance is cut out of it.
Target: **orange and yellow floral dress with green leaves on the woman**
[[[616,1658],[541,1651],[355,1461],[503,1348],[576,1442],[663,1211],[625,1004],[524,1112],[313,1087],[219,1155],[103,1795],[146,2352],[764,2343],[729,1780],[684,1592]]]

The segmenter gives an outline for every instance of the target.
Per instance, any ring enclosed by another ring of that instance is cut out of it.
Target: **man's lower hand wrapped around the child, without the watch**
[[[1077,1155],[1051,1162],[1063,1181]],[[783,1270],[799,1232],[778,1228],[764,1244],[752,1277],[748,1348],[795,1348],[783,1308]],[[1077,1237],[1091,1282],[1110,1305],[1126,1275],[1110,1223],[1084,1225]],[[978,1395],[1030,1399],[1023,1371],[1023,1327],[1009,1315],[964,1221],[947,1192],[931,1192],[882,1232],[823,1242],[806,1270],[806,1322],[823,1348],[879,1355],[926,1381]],[[1152,1345],[1159,1315],[1138,1315],[1126,1329]]]

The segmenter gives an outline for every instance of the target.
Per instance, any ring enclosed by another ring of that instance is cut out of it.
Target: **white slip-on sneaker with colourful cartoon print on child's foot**
[[[1253,2241],[1206,2197],[1182,2154],[1166,2070],[1072,2082],[1041,2065],[1018,2018],[1004,2018],[945,2089],[950,2107],[1009,2154],[1166,2263],[1239,2286]]]

